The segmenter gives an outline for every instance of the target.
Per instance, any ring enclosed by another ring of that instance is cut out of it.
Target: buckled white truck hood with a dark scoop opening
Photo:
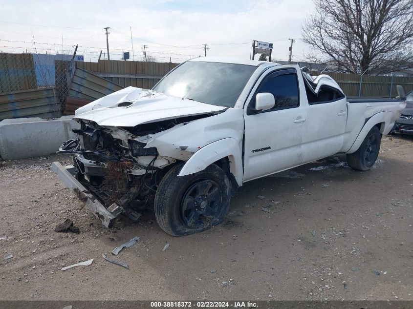
[[[125,89],[129,91],[126,92]],[[84,107],[87,107],[84,109],[85,112],[79,113],[77,110],[74,119],[89,120],[102,126],[135,126],[227,109],[224,106],[180,99],[147,89],[135,87],[125,89],[120,90],[123,91],[121,94],[117,94],[120,92],[117,91],[99,99],[100,101],[87,104],[90,106],[85,105]],[[99,104],[98,108],[96,103]]]

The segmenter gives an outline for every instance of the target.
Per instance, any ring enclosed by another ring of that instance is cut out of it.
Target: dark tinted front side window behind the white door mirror
[[[263,92],[273,94],[275,99],[274,107],[268,111],[299,106],[298,81],[295,73],[280,74],[278,71],[265,77],[248,105],[250,108],[255,107],[257,93]]]

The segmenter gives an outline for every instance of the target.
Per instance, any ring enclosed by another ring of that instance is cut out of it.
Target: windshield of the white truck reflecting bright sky
[[[234,107],[256,68],[233,63],[185,62],[153,90],[202,103]]]

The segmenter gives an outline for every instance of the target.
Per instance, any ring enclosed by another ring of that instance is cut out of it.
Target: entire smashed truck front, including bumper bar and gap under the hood
[[[188,160],[197,150],[178,147],[174,158],[159,154],[148,143],[169,129],[212,115],[186,116],[134,127],[100,126],[76,119],[80,123],[80,128],[73,130],[76,139],[65,142],[58,151],[73,154],[73,165],[66,168],[72,179],[65,181],[60,177],[58,169],[64,167],[56,165],[53,169],[66,185],[69,181],[76,183],[75,193],[79,198],[87,200],[92,196],[92,202],[101,205],[90,207],[87,203],[105,226],[110,226],[121,213],[136,220],[140,216],[137,211],[153,205],[157,185],[170,165]]]

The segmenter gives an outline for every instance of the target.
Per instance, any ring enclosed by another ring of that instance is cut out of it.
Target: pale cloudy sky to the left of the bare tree
[[[183,62],[203,56],[250,59],[253,40],[272,42],[273,60],[303,61],[309,49],[301,41],[301,26],[314,10],[311,0],[0,0],[0,51],[72,54],[96,62],[122,52],[142,60]],[[132,52],[133,43],[133,52]],[[62,46],[63,44],[63,46]]]

